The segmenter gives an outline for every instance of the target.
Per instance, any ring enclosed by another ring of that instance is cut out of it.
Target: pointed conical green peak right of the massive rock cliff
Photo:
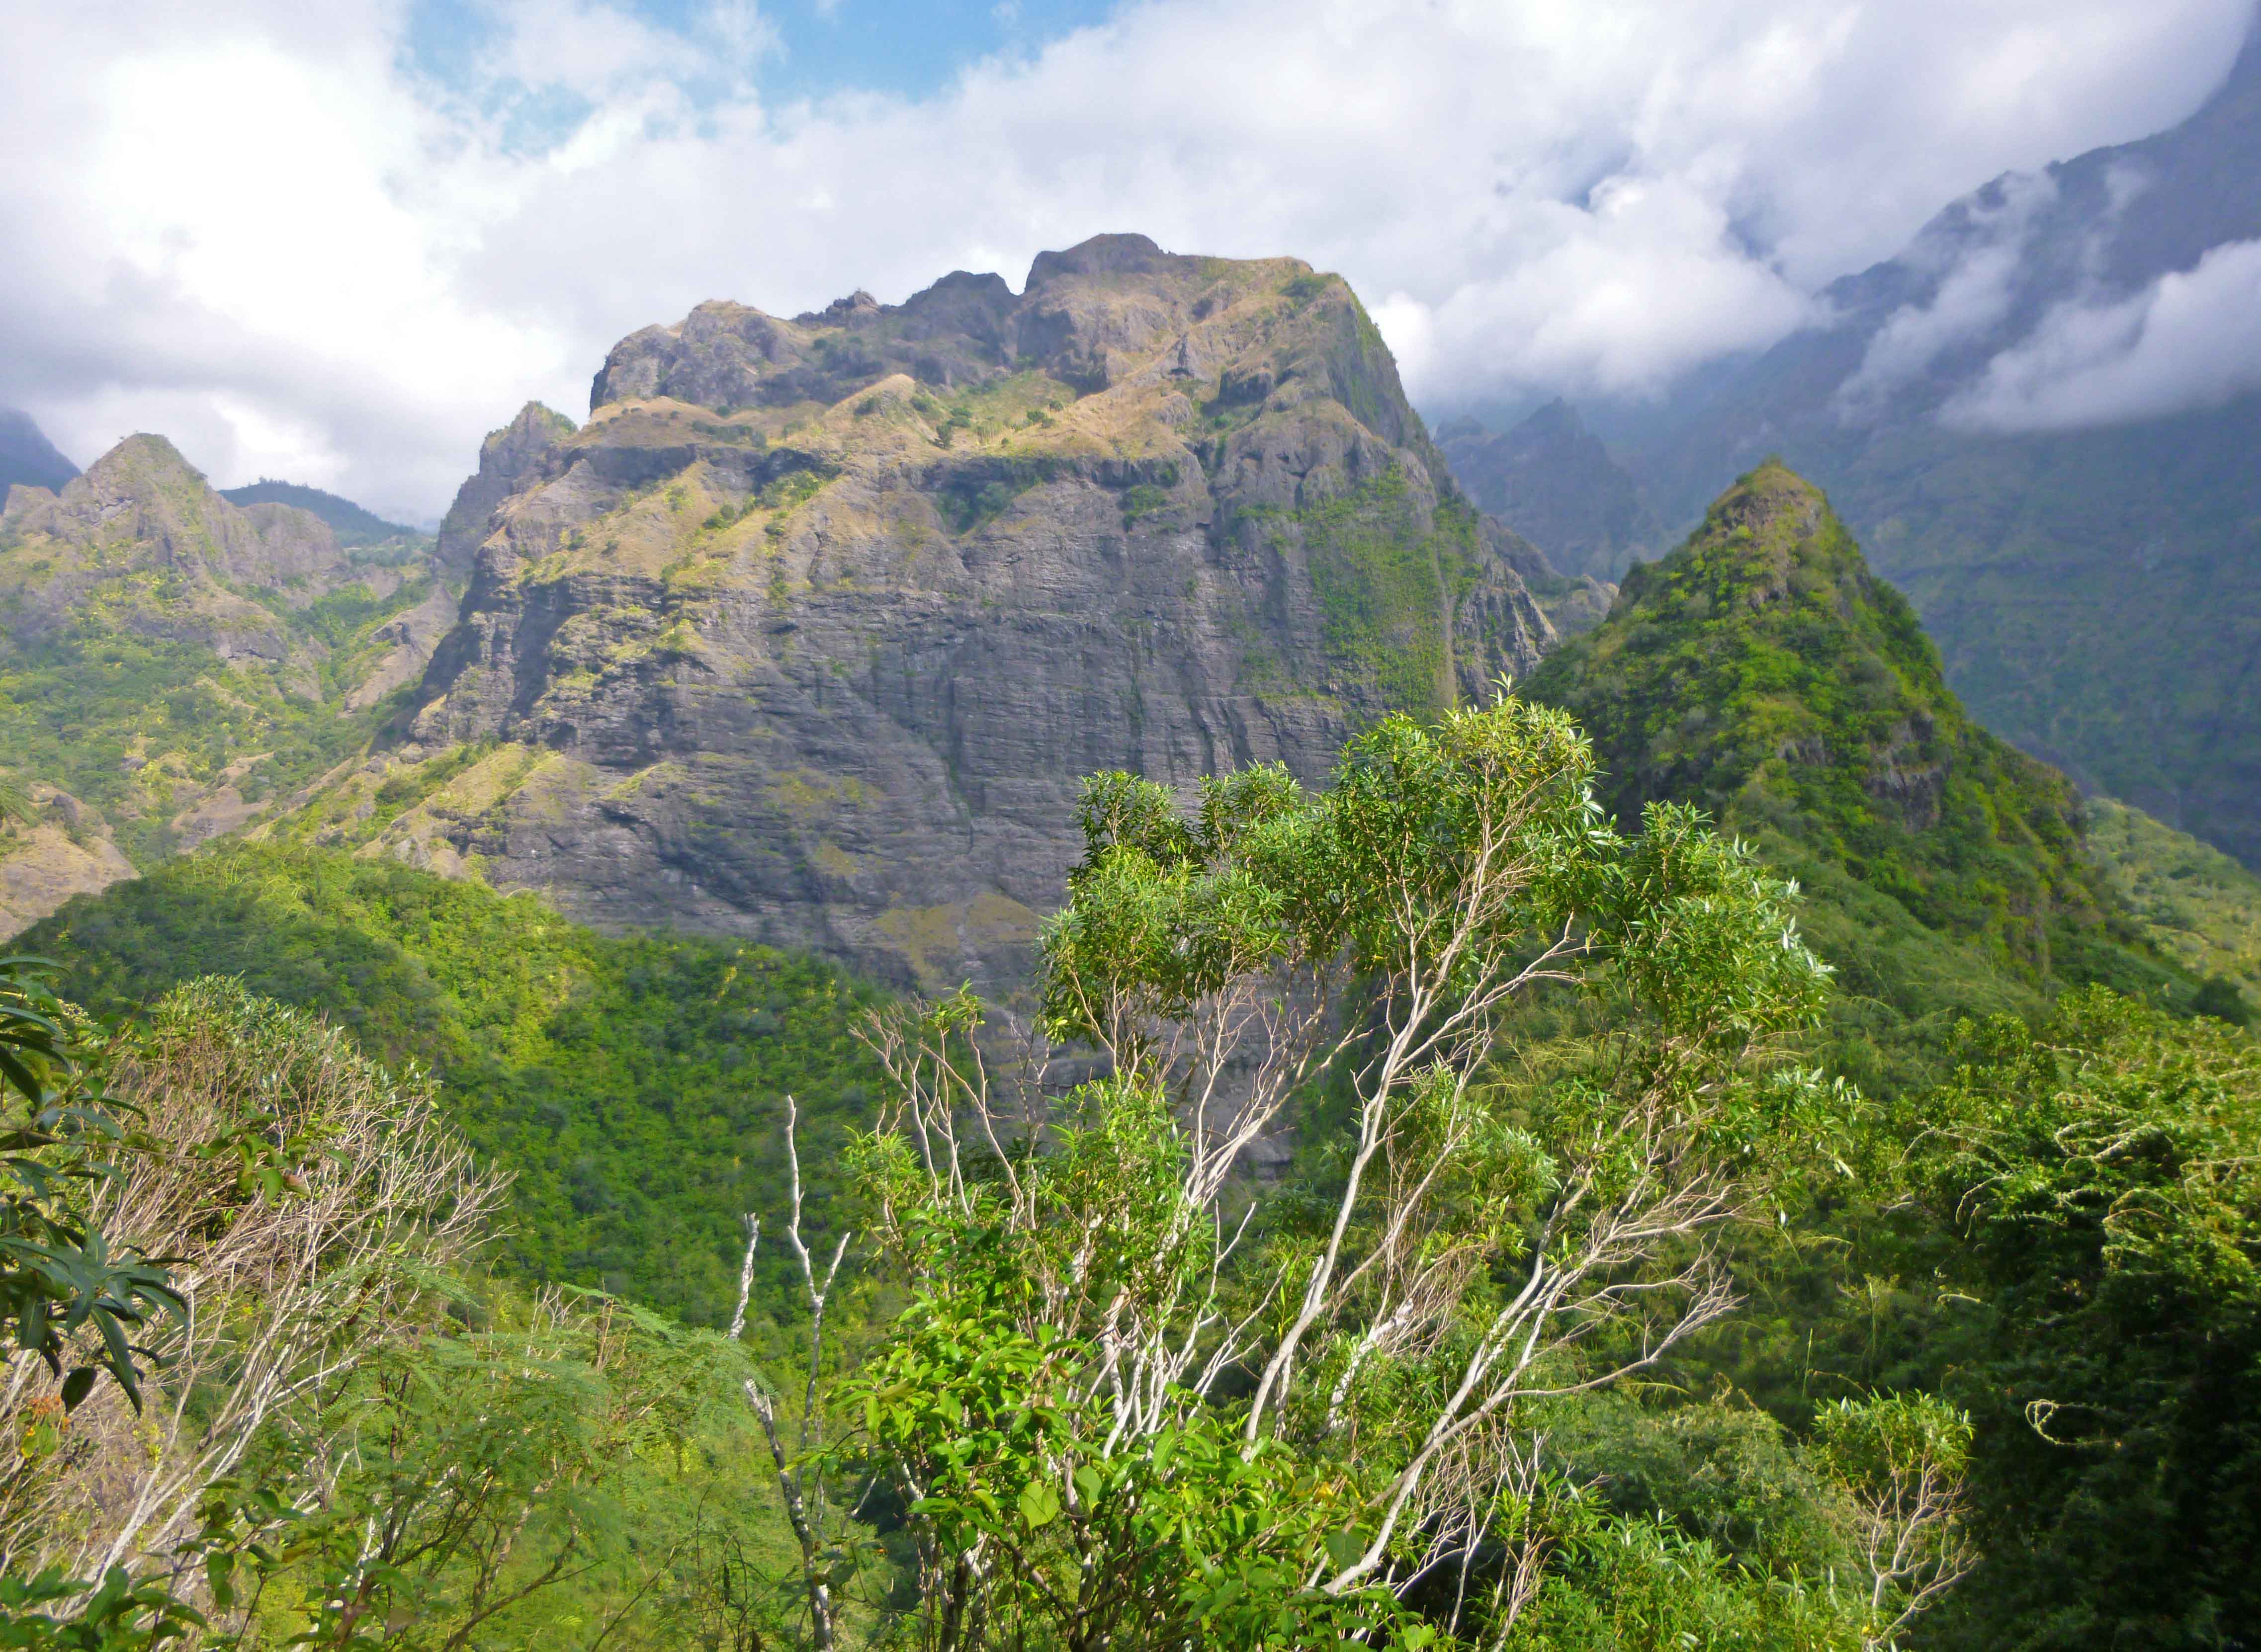
[[[1635,567],[1526,694],[1587,728],[1626,825],[1696,802],[2037,970],[2048,915],[2096,908],[2071,784],[1969,721],[1915,610],[1782,463]]]

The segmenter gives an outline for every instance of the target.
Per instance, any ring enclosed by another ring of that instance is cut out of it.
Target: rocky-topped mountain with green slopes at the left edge
[[[0,511],[0,766],[149,866],[362,750],[452,621],[423,542],[348,551],[321,518],[235,506],[163,436],[129,436]]]

